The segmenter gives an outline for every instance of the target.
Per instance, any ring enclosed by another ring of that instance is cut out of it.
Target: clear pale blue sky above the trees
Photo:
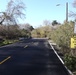
[[[0,12],[5,11],[9,0],[0,0]],[[19,20],[20,23],[29,23],[33,27],[38,27],[43,24],[43,21],[57,20],[63,23],[66,18],[66,2],[68,2],[68,12],[75,11],[72,3],[74,0],[22,0],[26,6],[26,18]],[[60,4],[60,6],[56,6]],[[69,17],[69,20],[74,18]]]

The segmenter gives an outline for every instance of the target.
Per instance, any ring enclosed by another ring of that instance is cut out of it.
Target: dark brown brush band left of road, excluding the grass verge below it
[[[31,37],[31,29],[21,29],[18,25],[0,26],[0,36],[5,39],[18,39],[19,37]]]

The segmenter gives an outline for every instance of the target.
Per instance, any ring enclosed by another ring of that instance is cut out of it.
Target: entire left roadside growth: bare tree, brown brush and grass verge
[[[6,10],[0,12],[0,46],[14,43],[19,38],[30,38],[34,29],[29,23],[19,24],[25,18],[25,4],[20,0],[9,0]]]

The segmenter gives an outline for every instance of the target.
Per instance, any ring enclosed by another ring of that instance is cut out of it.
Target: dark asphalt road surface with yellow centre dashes
[[[46,39],[0,48],[0,75],[69,75]]]

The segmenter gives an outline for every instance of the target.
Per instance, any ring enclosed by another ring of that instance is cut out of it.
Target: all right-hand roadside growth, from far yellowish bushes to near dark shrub
[[[34,29],[31,34],[36,38],[48,38],[57,44],[58,52],[63,54],[65,65],[72,71],[76,71],[76,51],[70,48],[70,41],[74,35],[74,21],[57,23],[55,25],[43,25]]]

